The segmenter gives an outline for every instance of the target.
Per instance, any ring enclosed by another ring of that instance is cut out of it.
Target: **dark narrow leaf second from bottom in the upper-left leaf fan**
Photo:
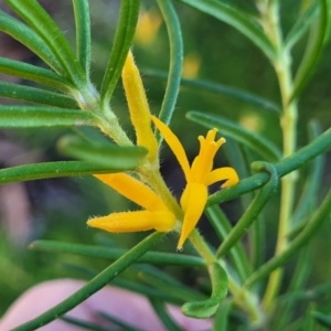
[[[0,82],[0,97],[61,108],[78,109],[76,100],[65,94],[6,82]]]

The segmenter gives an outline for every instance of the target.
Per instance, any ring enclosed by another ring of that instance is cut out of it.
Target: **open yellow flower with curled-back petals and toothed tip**
[[[185,150],[177,136],[157,117],[152,116],[152,120],[177,157],[186,180],[186,186],[180,201],[184,220],[178,248],[182,249],[185,239],[203,213],[209,195],[207,186],[226,180],[222,188],[228,188],[236,184],[239,179],[233,168],[224,167],[213,170],[214,157],[225,142],[224,138],[215,141],[217,129],[210,130],[206,137],[199,137],[200,152],[190,167]]]

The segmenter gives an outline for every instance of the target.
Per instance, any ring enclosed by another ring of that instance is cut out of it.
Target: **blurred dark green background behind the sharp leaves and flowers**
[[[75,31],[71,1],[40,1],[58,23],[66,38],[74,44]],[[246,0],[229,1],[254,12],[253,2]],[[296,22],[301,1],[285,0],[282,2],[282,24],[285,33]],[[89,1],[92,11],[93,64],[92,77],[96,86],[100,84],[106,66],[111,40],[118,19],[118,0]],[[276,75],[265,56],[245,36],[234,29],[174,1],[184,41],[184,72],[186,78],[207,79],[215,83],[241,88],[276,104],[279,104],[279,90]],[[6,4],[0,0],[1,9]],[[6,9],[7,10],[7,9]],[[297,44],[293,51],[293,68],[298,67],[306,47],[307,36]],[[30,63],[39,63],[23,46],[0,34],[0,55],[18,58]],[[167,72],[169,67],[169,41],[167,29],[154,1],[142,1],[141,18],[134,44],[136,62],[141,70],[150,108],[158,114],[166,88],[166,82],[152,77],[148,70]],[[298,146],[309,141],[307,125],[311,119],[318,119],[324,129],[331,125],[330,93],[330,43],[325,46],[318,68],[308,84],[299,103]],[[42,65],[42,64],[41,64]],[[2,79],[12,79],[2,75]],[[31,84],[23,82],[24,84]],[[10,104],[1,99],[1,104]],[[130,127],[125,94],[119,83],[111,99],[111,108],[120,117],[122,126],[134,137]],[[201,110],[218,114],[239,122],[245,128],[257,131],[277,146],[281,147],[281,130],[279,117],[275,111],[259,109],[233,97],[182,87],[177,103],[177,110],[171,122],[173,131],[184,145],[192,160],[197,151],[197,135],[204,135],[202,128],[185,119],[189,110]],[[73,131],[82,131],[83,128]],[[0,132],[0,164],[2,168],[41,162],[66,160],[56,148],[56,142],[64,129],[31,129],[2,130]],[[102,135],[85,130],[87,135]],[[221,132],[222,135],[222,132]],[[231,143],[228,143],[231,146]],[[227,147],[228,149],[228,147]],[[180,194],[184,185],[183,175],[173,154],[167,146],[162,149],[163,175]],[[228,164],[226,147],[216,158],[216,166]],[[327,156],[323,188],[331,183],[330,153]],[[303,169],[305,177],[305,169]],[[300,181],[302,178],[300,179]],[[298,192],[301,190],[299,182]],[[104,244],[131,247],[146,234],[106,234],[87,228],[86,221],[92,215],[106,215],[113,211],[129,210],[130,205],[121,196],[114,193],[92,177],[72,179],[52,179],[34,182],[15,183],[0,186],[0,316],[8,306],[26,288],[45,279],[57,277],[89,277],[94,270],[100,270],[108,261],[84,258],[73,255],[55,255],[26,249],[34,239],[55,239],[67,243]],[[236,222],[242,210],[238,201],[223,205],[228,217]],[[275,196],[267,205],[265,222],[267,228],[267,256],[273,253],[277,229],[278,197]],[[199,224],[204,237],[215,241],[207,221]],[[156,247],[174,252],[177,236],[169,235],[169,241]],[[327,281],[331,277],[330,255],[330,222],[325,222],[318,236],[312,241],[314,258],[311,268],[314,270],[310,282]],[[190,250],[190,248],[188,248]],[[188,252],[189,253],[189,252]],[[180,268],[169,268],[178,277],[184,278]],[[291,270],[291,263],[288,270]],[[135,273],[135,271],[132,271]],[[199,275],[199,270],[196,270]],[[135,276],[126,274],[128,278]],[[196,286],[199,277],[184,279],[191,286]],[[288,273],[288,279],[290,273]],[[287,281],[287,280],[286,280]]]

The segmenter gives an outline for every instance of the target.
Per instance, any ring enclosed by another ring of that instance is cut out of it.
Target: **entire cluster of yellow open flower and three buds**
[[[226,180],[223,188],[234,185],[238,182],[238,175],[232,168],[213,170],[214,157],[225,142],[224,138],[215,141],[216,129],[210,130],[206,137],[199,137],[200,152],[190,166],[184,148],[177,136],[161,120],[150,115],[140,74],[131,52],[128,53],[122,70],[122,82],[131,122],[136,129],[137,145],[148,149],[147,160],[137,169],[140,178],[147,183],[127,173],[95,174],[95,177],[143,210],[94,217],[87,224],[113,233],[148,229],[170,232],[181,227],[178,248],[182,249],[185,239],[203,213],[207,200],[207,186],[223,180]],[[159,173],[159,146],[151,129],[151,120],[161,131],[183,169],[186,179],[186,186],[180,201],[183,213],[173,201],[173,196]],[[181,220],[178,220],[182,217],[181,214],[183,214],[182,224]]]

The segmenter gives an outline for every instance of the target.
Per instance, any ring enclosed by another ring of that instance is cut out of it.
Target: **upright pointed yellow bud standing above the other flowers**
[[[159,147],[151,128],[151,115],[140,73],[130,51],[122,68],[121,79],[126,90],[131,122],[136,130],[137,145],[146,147],[149,151],[149,158],[157,160]]]

